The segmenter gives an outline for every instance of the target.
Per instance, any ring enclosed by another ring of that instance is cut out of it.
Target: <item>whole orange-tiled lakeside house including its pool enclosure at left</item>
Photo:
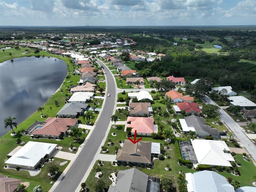
[[[67,134],[68,128],[76,125],[77,119],[49,117],[44,122],[45,124],[40,125],[32,124],[28,128],[32,130],[30,134],[43,138],[60,138]]]

